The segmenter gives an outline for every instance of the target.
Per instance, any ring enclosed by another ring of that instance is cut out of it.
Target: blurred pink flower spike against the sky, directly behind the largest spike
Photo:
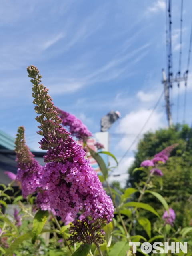
[[[74,115],[67,113],[65,111],[56,108],[59,113],[60,118],[63,120],[63,126],[69,127],[69,132],[72,136],[76,136],[79,140],[84,140],[88,137],[92,137],[92,133],[88,130],[88,128]]]

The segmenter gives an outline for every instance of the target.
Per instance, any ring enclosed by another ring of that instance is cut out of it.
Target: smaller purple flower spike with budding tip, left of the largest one
[[[16,181],[21,184],[23,198],[30,194],[36,194],[34,209],[51,210],[47,192],[48,186],[40,182],[43,174],[42,166],[26,145],[24,131],[24,126],[18,128],[15,141],[16,161],[18,162]]]

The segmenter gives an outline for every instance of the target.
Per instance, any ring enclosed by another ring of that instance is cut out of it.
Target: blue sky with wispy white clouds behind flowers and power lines
[[[180,0],[172,6],[173,69],[178,71]],[[118,110],[110,151],[126,152],[162,90],[166,68],[164,0],[0,0],[0,129],[15,136],[26,128],[28,146],[38,149],[36,114],[26,67],[33,64],[59,108],[80,118],[91,132],[100,118]],[[192,1],[184,0],[182,74],[188,57]],[[190,70],[192,67],[190,65]],[[192,83],[187,89],[186,123],[191,124]],[[176,122],[177,86],[171,94]],[[179,122],[183,122],[184,84]],[[167,126],[164,97],[144,132]],[[126,136],[114,135],[126,133]],[[132,148],[136,149],[136,144]],[[116,172],[124,172],[133,152]]]

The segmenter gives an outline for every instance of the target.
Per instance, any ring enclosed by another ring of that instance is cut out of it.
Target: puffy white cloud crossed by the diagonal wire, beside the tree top
[[[120,133],[135,135],[136,137],[137,134],[140,132],[141,128],[144,126],[151,112],[152,112],[152,109],[149,109],[149,110],[140,109],[138,111],[130,112],[130,114],[127,114],[124,118],[120,120],[119,125],[117,127],[117,131]],[[149,130],[155,131],[158,128],[162,127],[163,126],[162,116],[163,116],[163,113],[158,113],[154,111],[150,120],[142,130],[142,134],[146,133]],[[118,144],[118,148],[121,150],[127,150],[133,141],[134,141],[134,138],[130,140],[129,137],[123,137]],[[137,142],[138,140],[134,143],[130,151],[136,149]]]

